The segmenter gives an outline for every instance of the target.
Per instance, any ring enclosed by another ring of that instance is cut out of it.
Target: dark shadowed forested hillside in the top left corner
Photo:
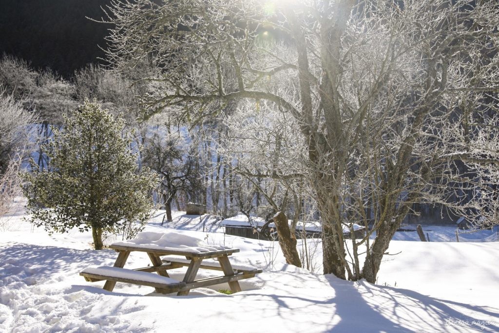
[[[109,0],[0,0],[0,53],[50,67],[64,77],[98,62],[107,25],[100,6]]]

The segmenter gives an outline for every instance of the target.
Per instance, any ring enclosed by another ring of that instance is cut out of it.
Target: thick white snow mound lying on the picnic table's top
[[[167,233],[141,232],[136,238],[114,243],[115,246],[134,246],[146,249],[182,250],[202,253],[230,249],[228,246],[207,245],[203,239],[174,231]]]

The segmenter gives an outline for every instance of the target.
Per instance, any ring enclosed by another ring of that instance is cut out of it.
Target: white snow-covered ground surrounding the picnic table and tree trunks
[[[161,226],[158,212],[146,231],[175,229],[208,246],[240,248],[231,261],[263,273],[242,280],[243,292],[233,295],[219,293],[223,285],[165,296],[120,283],[110,293],[103,282],[85,282],[78,274],[92,265],[112,266],[114,251],[91,250],[89,233],[50,236],[17,213],[0,220],[0,332],[499,331],[498,242],[407,242],[417,234],[398,233],[389,249],[398,254],[385,256],[378,284],[371,285],[286,265],[277,243],[225,235],[220,221],[182,214],[174,212],[174,221]],[[424,229],[431,240],[455,234],[453,228]],[[107,240],[116,241],[121,238]],[[148,263],[145,254],[132,253],[125,267]],[[185,268],[170,272],[181,279]]]

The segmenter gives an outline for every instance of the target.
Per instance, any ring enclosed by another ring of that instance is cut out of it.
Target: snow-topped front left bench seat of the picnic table
[[[109,266],[87,267],[81,271],[80,275],[91,282],[97,280],[117,281],[168,290],[179,290],[186,285],[185,282],[156,274]]]

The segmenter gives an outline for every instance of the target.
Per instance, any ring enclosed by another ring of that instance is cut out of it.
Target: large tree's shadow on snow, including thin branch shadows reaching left
[[[392,287],[371,285],[365,281],[348,282],[334,276],[325,276],[326,283],[334,290],[334,296],[326,300],[296,295],[260,295],[262,300],[272,299],[279,316],[284,318],[284,309],[293,311],[296,302],[307,304],[310,309],[310,324],[323,326],[322,332],[499,332],[498,309],[470,306],[468,304],[441,300],[423,294]],[[302,289],[306,290],[306,284]],[[324,288],[324,293],[328,293]],[[242,295],[257,296],[258,293]],[[312,307],[316,306],[316,309]],[[330,306],[330,310],[328,310]],[[327,317],[326,317],[327,316]],[[320,319],[319,317],[322,317]],[[296,316],[302,321],[302,316]],[[291,319],[292,321],[293,319]],[[325,325],[328,321],[330,325]],[[335,324],[336,321],[338,323]],[[286,321],[290,321],[289,318]],[[452,326],[452,327],[451,327]]]

